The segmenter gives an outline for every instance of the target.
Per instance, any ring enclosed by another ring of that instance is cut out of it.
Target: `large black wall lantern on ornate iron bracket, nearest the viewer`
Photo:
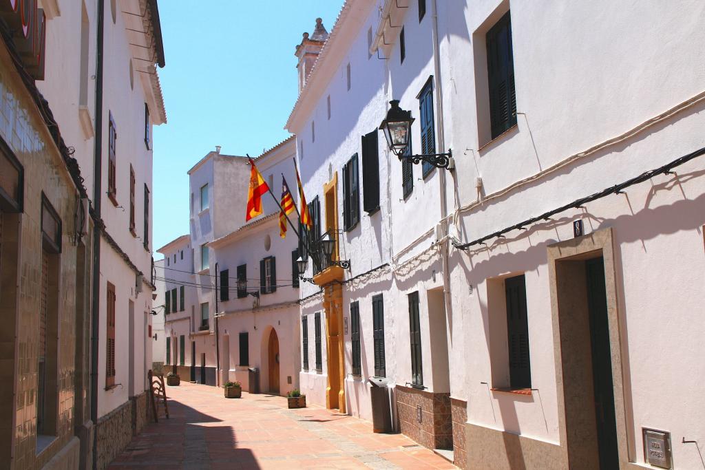
[[[398,99],[389,101],[389,104],[391,104],[391,108],[387,111],[387,116],[382,120],[379,129],[384,132],[389,149],[399,159],[410,159],[415,164],[425,161],[436,168],[446,168],[448,170],[455,168],[453,151],[450,149],[445,154],[404,155],[409,146],[411,125],[414,122],[414,118],[411,117],[411,111],[405,111],[399,107]]]

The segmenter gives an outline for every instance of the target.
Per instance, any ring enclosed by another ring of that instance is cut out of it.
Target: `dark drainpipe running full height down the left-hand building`
[[[103,17],[105,0],[98,0],[95,72],[95,139],[93,141],[93,212],[94,221],[101,219],[102,201],[102,147],[103,147]],[[99,223],[93,225],[93,299],[91,308],[90,345],[90,419],[93,421],[93,464],[98,466],[98,334],[100,319],[100,232]]]

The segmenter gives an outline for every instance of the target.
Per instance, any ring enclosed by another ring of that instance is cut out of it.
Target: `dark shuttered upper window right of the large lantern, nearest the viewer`
[[[489,117],[494,139],[517,123],[512,24],[509,12],[486,35]]]

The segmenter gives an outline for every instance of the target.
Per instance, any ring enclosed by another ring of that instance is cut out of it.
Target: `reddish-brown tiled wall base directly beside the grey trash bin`
[[[427,392],[396,385],[395,395],[402,433],[429,449],[453,448],[450,393]]]

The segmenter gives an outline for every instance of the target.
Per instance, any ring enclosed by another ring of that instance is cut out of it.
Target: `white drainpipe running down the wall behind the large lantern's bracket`
[[[439,153],[446,151],[446,131],[443,119],[443,80],[441,80],[441,53],[439,44],[439,9],[438,0],[433,2],[433,35],[434,35],[434,73],[436,74],[436,116],[439,117]],[[446,303],[446,328],[450,328],[447,319],[453,316],[453,305],[450,302],[450,268],[448,267],[448,251],[450,240],[448,240],[448,199],[446,195],[446,171],[439,170],[439,181],[441,190],[441,230],[445,241],[441,247],[443,259],[443,300]],[[452,340],[451,340],[452,342]]]

